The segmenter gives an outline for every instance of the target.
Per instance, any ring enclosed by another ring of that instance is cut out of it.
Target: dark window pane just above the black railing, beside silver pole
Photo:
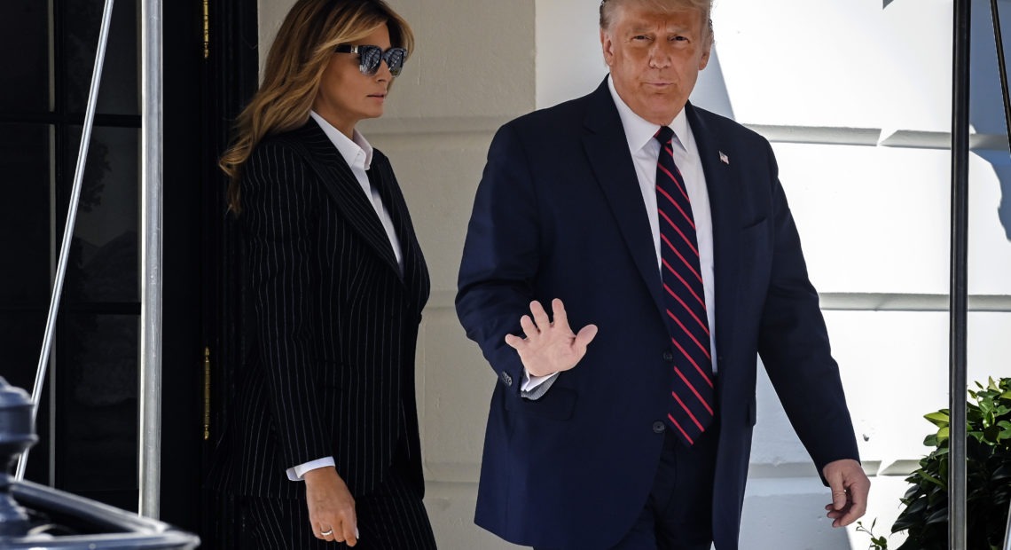
[[[139,317],[68,313],[61,318],[55,378],[58,486],[91,497],[92,491],[133,490]]]

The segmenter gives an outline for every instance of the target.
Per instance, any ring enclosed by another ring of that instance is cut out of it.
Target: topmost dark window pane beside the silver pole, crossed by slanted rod
[[[63,32],[59,49],[66,71],[63,91],[68,112],[83,113],[88,102],[95,51],[102,25],[102,0],[74,0],[61,5]],[[136,0],[120,0],[112,9],[109,40],[105,49],[98,113],[140,114],[137,87],[139,41]]]

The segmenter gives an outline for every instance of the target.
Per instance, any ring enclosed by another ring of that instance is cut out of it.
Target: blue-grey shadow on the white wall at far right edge
[[[998,3],[1000,10],[1001,29],[1004,34],[1004,56],[1011,57],[1011,2],[1002,0]],[[970,63],[970,120],[977,133],[996,136],[987,140],[986,149],[974,151],[981,159],[990,163],[994,174],[1000,182],[1001,201],[997,206],[997,215],[1004,236],[1011,241],[1011,155],[1007,143],[1008,128],[1005,125],[1004,100],[1001,95],[1000,72],[997,65],[997,49],[995,48],[993,22],[991,19],[990,2],[976,0],[973,3],[973,41],[970,45],[972,61]],[[1003,138],[1003,139],[1002,139]],[[991,145],[992,144],[992,145]]]

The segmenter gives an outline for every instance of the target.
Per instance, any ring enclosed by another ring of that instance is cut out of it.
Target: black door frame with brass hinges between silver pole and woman
[[[242,250],[217,160],[259,85],[257,0],[181,4],[163,4],[162,519],[199,533],[204,548],[237,548],[240,515],[218,472],[228,452],[231,373],[242,358]],[[175,28],[187,30],[176,34]],[[176,40],[185,43],[171,43]],[[173,185],[184,181],[200,183]],[[177,364],[186,365],[185,374],[174,372]],[[186,395],[185,402],[174,402],[174,395]]]

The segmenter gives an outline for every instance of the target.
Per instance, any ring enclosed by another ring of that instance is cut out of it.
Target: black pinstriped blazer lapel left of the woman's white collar
[[[402,280],[400,266],[396,263],[386,230],[383,228],[375,207],[365,196],[358,178],[351,172],[344,157],[312,118],[295,132],[305,146],[306,162],[319,177],[319,181],[334,199],[338,209]]]

